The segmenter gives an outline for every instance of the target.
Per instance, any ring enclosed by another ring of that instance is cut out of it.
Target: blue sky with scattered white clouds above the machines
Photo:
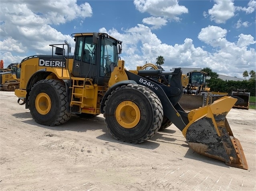
[[[123,41],[126,69],[165,59],[163,68],[206,68],[244,78],[256,71],[256,0],[1,0],[4,67],[51,54],[72,33]]]

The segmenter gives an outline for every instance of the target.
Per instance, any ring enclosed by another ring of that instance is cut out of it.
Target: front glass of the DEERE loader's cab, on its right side
[[[110,76],[113,68],[117,66],[117,41],[104,38],[101,42],[101,76]]]

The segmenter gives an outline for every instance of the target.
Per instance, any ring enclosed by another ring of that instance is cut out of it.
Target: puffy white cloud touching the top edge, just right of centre
[[[153,25],[152,29],[161,28],[167,20],[178,22],[181,14],[188,13],[188,9],[179,5],[178,0],[134,0],[133,3],[140,12],[153,16],[143,19],[143,23]],[[160,22],[155,24],[157,20]]]

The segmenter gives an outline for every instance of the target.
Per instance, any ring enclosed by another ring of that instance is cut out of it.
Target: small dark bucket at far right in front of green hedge
[[[236,92],[232,92],[232,97],[238,99],[233,108],[249,109],[250,93],[245,92],[244,90],[238,90]]]

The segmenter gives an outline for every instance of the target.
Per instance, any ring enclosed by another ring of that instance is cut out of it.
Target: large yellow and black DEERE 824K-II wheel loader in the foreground
[[[26,57],[18,65],[20,88],[15,95],[36,122],[55,126],[72,114],[103,114],[113,137],[133,144],[150,139],[172,122],[194,151],[248,169],[242,146],[226,120],[235,98],[225,96],[185,112],[178,103],[183,94],[180,68],[128,71],[119,57],[121,41],[107,33],[72,36],[74,55],[65,41],[50,45],[51,55]],[[169,85],[161,83],[165,76]]]

